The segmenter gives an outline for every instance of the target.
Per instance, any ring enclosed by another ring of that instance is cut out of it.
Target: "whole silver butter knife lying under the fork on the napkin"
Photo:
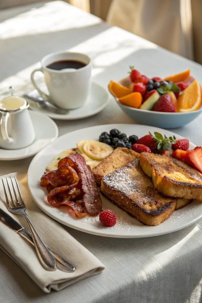
[[[0,208],[0,222],[6,225],[8,228],[15,231],[17,234],[20,234],[23,238],[25,238],[29,243],[34,246],[34,242],[31,238],[31,234],[27,231],[22,225],[20,225],[15,219],[13,219],[10,215],[8,215],[5,211]],[[47,246],[51,255],[55,258],[57,268],[61,271],[65,272],[73,272],[75,271],[74,265],[69,263],[67,260],[58,255],[55,251]]]

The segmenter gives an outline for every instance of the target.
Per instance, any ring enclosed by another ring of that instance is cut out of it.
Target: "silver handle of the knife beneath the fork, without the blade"
[[[31,234],[25,229],[23,228],[21,231],[18,232],[24,239],[26,239],[29,243],[31,243],[33,246],[34,242],[32,240]],[[74,265],[72,265],[71,263],[69,263],[67,260],[65,260],[64,258],[62,258],[60,255],[58,255],[54,250],[52,250],[51,248],[49,248],[48,246],[46,246],[49,250],[49,252],[51,253],[51,255],[55,258],[56,260],[56,265],[57,268],[61,271],[65,271],[65,272],[74,272],[75,271],[75,267]]]

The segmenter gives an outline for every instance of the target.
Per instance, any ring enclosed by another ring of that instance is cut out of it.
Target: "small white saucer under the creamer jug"
[[[34,142],[21,149],[0,148],[0,160],[19,160],[31,157],[58,137],[58,127],[51,118],[33,111],[29,111],[29,114],[35,130]]]

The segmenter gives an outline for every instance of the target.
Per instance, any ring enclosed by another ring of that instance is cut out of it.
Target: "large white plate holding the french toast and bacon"
[[[40,151],[29,166],[28,186],[37,205],[50,217],[69,227],[94,235],[117,238],[142,238],[163,235],[185,228],[198,221],[202,217],[202,204],[198,201],[191,202],[184,208],[174,211],[171,217],[160,225],[147,226],[132,218],[101,195],[103,209],[113,210],[117,218],[116,225],[110,228],[103,227],[99,222],[99,216],[74,219],[67,214],[65,207],[57,208],[47,202],[47,191],[40,187],[40,178],[51,159],[61,151],[75,147],[79,140],[97,140],[101,132],[110,131],[111,128],[118,128],[126,133],[127,136],[137,135],[138,137],[142,137],[148,134],[149,131],[152,133],[157,131],[163,135],[167,135],[167,137],[175,135],[177,139],[182,138],[173,132],[161,128],[133,124],[98,125],[65,134]],[[195,145],[190,143],[190,148],[194,147]]]

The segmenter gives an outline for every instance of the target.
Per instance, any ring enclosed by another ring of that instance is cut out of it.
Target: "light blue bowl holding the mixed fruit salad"
[[[122,79],[119,81],[119,83],[129,87],[128,77]],[[197,111],[186,113],[154,112],[123,105],[119,102],[118,98],[116,98],[114,95],[113,97],[115,98],[120,108],[135,122],[144,125],[156,126],[159,128],[177,128],[183,126],[196,119],[202,112],[202,108],[198,109]]]

